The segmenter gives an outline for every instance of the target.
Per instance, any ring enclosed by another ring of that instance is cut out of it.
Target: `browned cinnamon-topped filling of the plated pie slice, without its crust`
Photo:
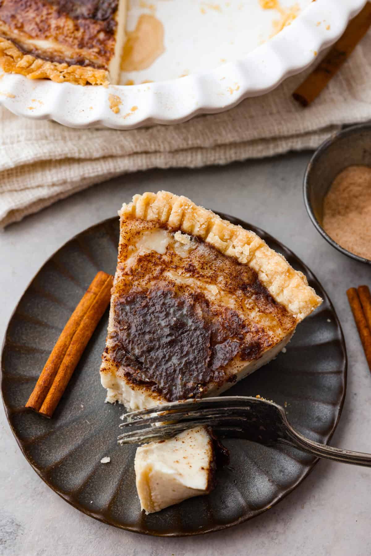
[[[166,401],[207,395],[290,337],[295,317],[253,269],[145,224],[119,254],[106,347],[117,378]]]

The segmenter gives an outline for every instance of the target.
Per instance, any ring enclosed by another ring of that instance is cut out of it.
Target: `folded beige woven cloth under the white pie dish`
[[[0,108],[0,227],[125,172],[196,168],[313,149],[341,125],[371,119],[369,52],[371,32],[307,108],[291,92],[310,69],[264,97],[174,126],[75,130]]]

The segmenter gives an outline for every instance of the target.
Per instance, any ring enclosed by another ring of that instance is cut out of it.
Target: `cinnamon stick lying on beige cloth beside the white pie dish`
[[[303,83],[293,92],[293,97],[301,106],[308,106],[318,97],[330,79],[342,67],[352,54],[358,42],[367,33],[371,25],[371,3],[367,2],[358,16],[348,24],[342,37],[334,44],[330,52]]]

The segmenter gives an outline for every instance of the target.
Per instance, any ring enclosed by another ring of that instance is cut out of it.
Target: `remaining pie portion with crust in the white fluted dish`
[[[0,0],[0,66],[61,83],[117,83],[126,0]]]

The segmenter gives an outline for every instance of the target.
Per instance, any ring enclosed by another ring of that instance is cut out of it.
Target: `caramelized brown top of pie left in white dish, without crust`
[[[25,53],[51,62],[106,68],[115,50],[117,4],[118,0],[2,0],[0,31]],[[51,41],[54,48],[45,52],[34,41]]]

